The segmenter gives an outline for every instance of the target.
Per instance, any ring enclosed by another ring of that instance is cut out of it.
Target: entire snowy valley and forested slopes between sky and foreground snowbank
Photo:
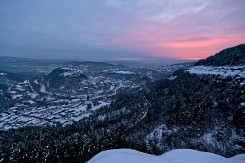
[[[0,71],[0,160],[86,162],[118,148],[244,153],[244,49],[153,67],[10,64]]]

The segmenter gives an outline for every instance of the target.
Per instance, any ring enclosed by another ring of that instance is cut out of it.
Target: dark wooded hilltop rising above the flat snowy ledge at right
[[[214,56],[198,61],[195,66],[224,66],[245,64],[245,44],[227,48]]]

